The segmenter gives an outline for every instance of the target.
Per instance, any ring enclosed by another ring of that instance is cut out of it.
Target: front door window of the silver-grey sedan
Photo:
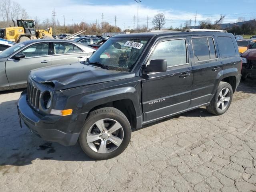
[[[25,57],[36,57],[36,56],[46,56],[48,55],[49,44],[48,43],[40,43],[32,45],[20,53],[25,54]]]

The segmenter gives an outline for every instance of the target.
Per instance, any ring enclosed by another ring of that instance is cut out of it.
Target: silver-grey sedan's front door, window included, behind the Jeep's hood
[[[48,42],[33,44],[19,53],[24,53],[26,57],[6,61],[6,76],[10,87],[26,86],[30,70],[52,65]]]

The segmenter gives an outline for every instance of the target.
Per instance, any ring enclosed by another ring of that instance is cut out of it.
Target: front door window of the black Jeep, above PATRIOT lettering
[[[170,40],[160,42],[150,60],[154,59],[165,59],[167,61],[167,66],[175,66],[187,63],[187,49],[186,40]]]

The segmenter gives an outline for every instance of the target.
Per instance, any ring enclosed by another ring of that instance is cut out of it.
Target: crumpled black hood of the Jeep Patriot
[[[134,76],[135,73],[132,72],[106,70],[79,62],[39,68],[30,72],[30,78],[38,83],[48,84],[54,90],[64,90],[101,82],[133,78]]]

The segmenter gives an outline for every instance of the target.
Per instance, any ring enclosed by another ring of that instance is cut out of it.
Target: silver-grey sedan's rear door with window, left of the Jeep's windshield
[[[52,65],[64,65],[78,62],[78,56],[84,56],[82,53],[78,55],[81,50],[72,43],[53,42],[54,53],[52,55]]]

